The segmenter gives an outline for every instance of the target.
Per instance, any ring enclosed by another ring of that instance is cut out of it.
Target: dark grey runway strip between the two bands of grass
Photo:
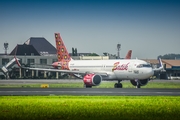
[[[180,89],[152,88],[0,88],[0,95],[107,95],[107,96],[180,96]]]

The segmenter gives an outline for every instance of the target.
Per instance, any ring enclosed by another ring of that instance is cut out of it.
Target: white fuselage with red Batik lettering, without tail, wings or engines
[[[103,79],[148,79],[154,74],[150,64],[138,59],[122,60],[71,60],[71,71],[100,74]]]

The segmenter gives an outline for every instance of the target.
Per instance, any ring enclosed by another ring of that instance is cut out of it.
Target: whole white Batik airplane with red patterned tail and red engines
[[[133,86],[140,88],[148,83],[149,78],[154,74],[152,66],[146,61],[139,59],[115,59],[115,60],[73,60],[64,45],[60,33],[55,33],[57,56],[61,69],[44,69],[22,67],[18,60],[19,67],[29,70],[53,71],[70,74],[81,74],[85,88],[98,86],[102,80],[117,80],[114,88],[122,88],[121,81],[130,80]],[[16,57],[15,57],[16,58]],[[156,70],[162,70],[162,61],[159,58],[160,67]]]

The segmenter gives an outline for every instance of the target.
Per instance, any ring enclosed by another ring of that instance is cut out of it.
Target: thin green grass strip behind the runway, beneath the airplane
[[[99,86],[93,86],[93,88],[113,88],[114,83],[117,81],[112,82],[102,82]],[[123,81],[123,88],[135,88],[131,85],[130,81]],[[0,84],[0,87],[40,87],[41,84]],[[60,88],[82,88],[83,81],[78,82],[67,82],[67,83],[50,83],[49,87],[60,87]],[[149,81],[149,83],[142,88],[180,88],[180,82],[157,82],[157,81]]]

